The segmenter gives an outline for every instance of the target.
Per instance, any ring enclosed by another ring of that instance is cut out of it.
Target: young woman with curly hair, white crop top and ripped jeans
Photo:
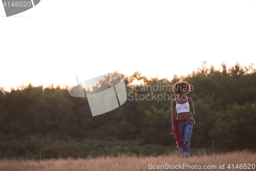
[[[180,149],[181,157],[188,158],[190,149],[190,138],[193,129],[193,119],[195,115],[193,101],[186,94],[191,91],[187,82],[181,81],[174,84],[174,92],[178,98],[172,100],[172,134],[175,134],[177,147]],[[191,113],[189,113],[189,107]],[[175,109],[177,110],[177,119],[175,119]],[[176,125],[176,126],[175,126]]]

